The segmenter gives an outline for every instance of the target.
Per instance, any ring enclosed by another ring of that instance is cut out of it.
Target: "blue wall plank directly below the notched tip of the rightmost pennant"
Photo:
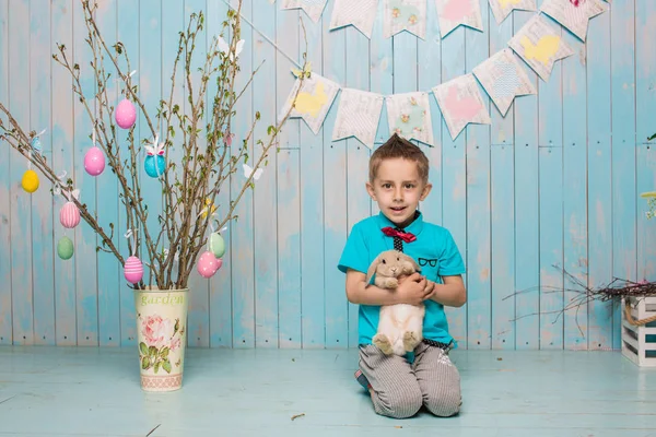
[[[563,268],[587,282],[587,87],[585,44],[567,32],[564,40],[574,56],[563,60]],[[581,286],[564,277],[564,305],[581,297]],[[564,315],[564,347],[587,349],[587,305]]]

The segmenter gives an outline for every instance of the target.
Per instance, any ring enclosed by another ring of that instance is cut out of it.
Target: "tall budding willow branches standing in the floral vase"
[[[94,20],[94,13],[97,7],[95,4],[92,5],[87,0],[81,0],[81,2],[89,32],[89,38],[85,40],[93,55],[90,63],[95,80],[95,107],[92,107],[92,103],[84,95],[84,87],[82,86],[80,79],[80,66],[73,63],[67,57],[66,47],[63,45],[58,45],[59,54],[54,55],[54,59],[72,76],[72,91],[80,103],[82,103],[84,111],[92,120],[93,129],[96,132],[96,145],[103,150],[109,167],[118,178],[120,191],[122,191],[120,193],[121,201],[124,202],[127,212],[127,224],[129,228],[134,228],[137,226],[140,226],[141,228],[142,233],[138,238],[141,243],[138,243],[137,245],[139,247],[143,244],[147,249],[148,261],[150,261],[150,263],[147,262],[147,264],[151,267],[151,273],[154,274],[156,285],[160,288],[171,288],[173,286],[186,287],[199,251],[207,241],[206,235],[209,225],[214,221],[212,211],[208,211],[208,214],[204,217],[201,217],[199,212],[206,208],[206,199],[211,201],[207,206],[210,209],[212,208],[218,193],[221,191],[223,182],[227,181],[232,175],[236,173],[237,166],[242,160],[248,158],[248,145],[253,142],[254,131],[260,118],[259,113],[256,113],[254,121],[249,127],[249,131],[245,135],[246,138],[242,140],[243,146],[233,154],[232,151],[234,151],[234,149],[232,145],[227,144],[229,141],[225,135],[232,133],[232,117],[235,115],[234,108],[236,103],[244,95],[244,91],[251,86],[253,79],[259,71],[258,67],[250,73],[244,87],[235,93],[236,74],[239,72],[239,66],[237,63],[237,57],[234,56],[234,54],[236,54],[236,44],[241,36],[241,1],[238,8],[230,10],[229,20],[224,24],[224,28],[227,26],[233,36],[231,38],[229,52],[222,52],[219,49],[218,39],[213,38],[201,69],[199,72],[195,71],[194,74],[191,72],[194,69],[194,51],[196,48],[196,40],[203,31],[204,15],[202,13],[192,14],[186,32],[180,32],[177,56],[171,75],[171,94],[168,95],[168,101],[160,101],[156,129],[153,128],[153,122],[148,115],[145,105],[137,94],[137,87],[132,86],[130,75],[119,68],[119,59],[125,59],[127,71],[130,71],[130,61],[127,50],[125,50],[125,47],[120,42],[117,42],[114,46],[107,46]],[[303,25],[303,23],[301,24]],[[304,26],[303,32],[305,34]],[[305,40],[305,44],[307,47],[307,40]],[[143,198],[141,196],[141,180],[139,178],[140,169],[138,168],[138,151],[140,151],[140,149],[137,149],[140,147],[141,142],[139,139],[134,138],[133,129],[130,129],[127,132],[129,157],[124,163],[120,155],[120,147],[118,146],[119,141],[117,139],[117,130],[110,121],[114,115],[114,107],[110,104],[112,99],[108,95],[108,83],[112,79],[112,74],[107,72],[105,67],[105,60],[107,58],[110,60],[114,68],[116,68],[117,74],[122,81],[121,86],[125,85],[124,92],[126,97],[129,97],[130,101],[140,108],[140,113],[144,117],[153,138],[155,137],[155,132],[159,132],[162,126],[162,129],[165,132],[164,144],[167,157],[169,149],[173,149],[174,146],[173,138],[175,129],[172,125],[172,121],[175,122],[174,119],[177,121],[177,127],[181,130],[181,147],[184,152],[183,162],[179,167],[181,169],[181,175],[179,172],[175,172],[177,168],[176,163],[171,163],[168,158],[166,158],[168,168],[164,172],[162,177],[159,178],[164,196],[164,212],[159,216],[161,227],[159,233],[155,233],[156,238],[154,240],[153,235],[149,232],[147,223],[149,211],[144,206]],[[304,59],[306,59],[306,54],[304,54]],[[216,64],[218,60],[219,63]],[[177,104],[174,101],[175,87],[177,84],[176,74],[180,62],[184,67],[184,81],[186,82],[185,95],[188,104]],[[303,66],[304,70],[305,68],[306,64]],[[195,79],[197,78],[196,74],[199,74],[198,79]],[[215,94],[211,96],[211,101],[208,99],[208,103],[212,102],[212,110],[206,116],[208,82],[214,78],[216,91]],[[302,85],[304,75],[302,74],[298,79]],[[261,144],[261,154],[259,158],[255,160],[255,165],[253,166],[254,173],[248,175],[236,198],[230,202],[230,209],[226,215],[216,220],[218,223],[220,222],[220,228],[231,220],[235,218],[233,215],[234,211],[239,204],[246,189],[254,186],[253,177],[255,170],[262,165],[268,158],[270,150],[278,143],[278,135],[294,108],[301,87],[302,86],[298,86],[296,90],[296,95],[293,97],[292,105],[284,117],[276,127],[269,127],[268,142],[265,143],[261,140],[255,142],[256,144]],[[185,108],[187,108],[187,111],[185,111]],[[55,172],[48,166],[45,158],[37,153],[31,153],[31,137],[20,128],[9,110],[1,104],[0,111],[7,115],[11,125],[11,129],[5,128],[2,126],[0,119],[0,132],[3,132],[0,138],[8,141],[13,149],[16,149],[23,156],[30,160],[35,168],[40,170],[50,182],[60,184]],[[96,114],[98,114],[97,118]],[[107,117],[107,119],[105,119],[105,117]],[[206,128],[206,132],[202,132],[203,127]],[[33,133],[31,133],[31,135]],[[201,152],[203,146],[204,150]],[[173,175],[168,174],[169,170],[173,172]],[[62,189],[67,192],[71,192],[72,185],[67,184],[67,187],[62,187]],[[87,211],[86,205],[81,204],[72,197],[70,198],[70,200],[80,209],[81,217],[94,229],[94,232],[96,232],[97,235],[101,236],[103,246],[108,248],[107,251],[112,252],[117,260],[124,264],[125,259],[113,240],[114,233],[108,236],[97,220]],[[168,255],[166,256],[163,250],[157,250],[164,234],[166,234],[168,244],[171,245]],[[131,248],[131,241],[128,241],[128,247]],[[132,252],[132,250],[130,250],[130,252]],[[178,272],[177,277],[174,279],[173,270],[175,264],[178,267]],[[153,277],[151,276],[149,285],[152,280]],[[133,286],[142,288],[145,284],[141,281]]]

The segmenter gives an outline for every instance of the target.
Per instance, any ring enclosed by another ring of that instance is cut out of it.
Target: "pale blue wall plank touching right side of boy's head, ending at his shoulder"
[[[442,82],[442,50],[440,23],[436,20],[437,8],[434,1],[427,2],[426,39],[417,45],[418,90],[430,90]],[[429,182],[433,185],[429,198],[420,205],[423,220],[436,225],[442,224],[442,114],[437,101],[429,97],[431,108],[431,127],[433,128],[434,145],[424,147],[430,163]]]

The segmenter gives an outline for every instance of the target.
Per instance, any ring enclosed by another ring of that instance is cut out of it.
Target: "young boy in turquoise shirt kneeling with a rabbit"
[[[454,339],[444,305],[460,307],[467,300],[465,265],[450,233],[424,222],[418,210],[431,188],[429,160],[395,133],[370,160],[366,190],[380,213],[353,226],[338,265],[347,274],[349,302],[360,305],[355,376],[370,390],[375,412],[395,418],[413,416],[422,405],[437,416],[452,416],[461,404],[460,376],[447,355]],[[367,284],[371,262],[393,248],[414,258],[421,274],[401,280],[395,291]],[[411,362],[372,344],[380,305],[421,303],[424,341]]]

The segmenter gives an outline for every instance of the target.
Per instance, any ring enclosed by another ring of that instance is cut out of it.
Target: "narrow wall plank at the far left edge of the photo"
[[[0,102],[9,104],[9,2],[0,4]],[[0,122],[7,126],[4,115]],[[12,343],[12,303],[11,303],[11,157],[17,154],[7,144],[0,147],[0,281],[7,284],[0,290],[0,344]]]

